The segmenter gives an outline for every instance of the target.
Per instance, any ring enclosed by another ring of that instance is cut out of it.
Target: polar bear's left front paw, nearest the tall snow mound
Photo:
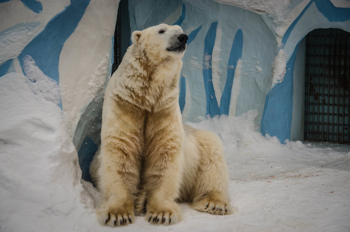
[[[107,226],[125,226],[134,221],[134,212],[127,209],[119,210],[101,210],[97,212],[97,217],[102,225]]]

